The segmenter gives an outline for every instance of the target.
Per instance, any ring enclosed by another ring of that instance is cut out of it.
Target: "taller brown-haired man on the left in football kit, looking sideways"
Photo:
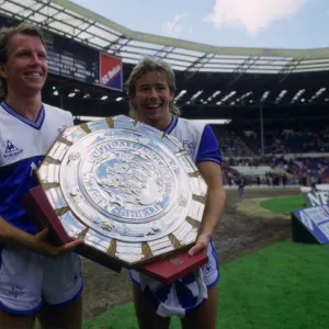
[[[72,250],[46,242],[20,201],[58,137],[73,125],[69,112],[42,102],[48,73],[42,32],[0,29],[0,329],[81,328],[82,279]]]

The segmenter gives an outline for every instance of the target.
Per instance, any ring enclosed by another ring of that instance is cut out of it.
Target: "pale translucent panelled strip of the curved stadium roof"
[[[179,71],[284,73],[329,70],[329,48],[216,47],[135,32],[67,0],[0,0],[0,13],[31,21],[136,64],[145,55],[166,58]]]

